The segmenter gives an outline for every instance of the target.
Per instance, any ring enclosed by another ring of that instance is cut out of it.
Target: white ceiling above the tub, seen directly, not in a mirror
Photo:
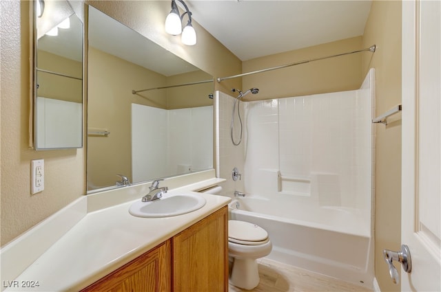
[[[240,60],[360,36],[371,9],[371,0],[185,2],[192,18]]]

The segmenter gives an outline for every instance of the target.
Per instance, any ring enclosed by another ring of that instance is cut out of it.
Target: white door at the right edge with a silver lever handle
[[[441,291],[440,100],[441,1],[402,1],[402,291]]]

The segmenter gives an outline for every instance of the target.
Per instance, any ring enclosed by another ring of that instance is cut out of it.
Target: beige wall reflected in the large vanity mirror
[[[92,131],[110,131],[107,137],[88,137],[90,190],[113,186],[119,180],[117,174],[125,175],[133,181],[132,103],[161,109],[213,104],[208,98],[208,94],[213,93],[212,82],[132,94],[132,90],[212,79],[203,71],[166,77],[94,47],[89,48],[88,58],[88,128]]]

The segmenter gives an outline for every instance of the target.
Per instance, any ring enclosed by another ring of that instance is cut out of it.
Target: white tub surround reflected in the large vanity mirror
[[[213,168],[213,106],[158,109],[132,104],[132,179]],[[152,143],[151,133],[155,135]],[[145,155],[149,146],[150,153]]]

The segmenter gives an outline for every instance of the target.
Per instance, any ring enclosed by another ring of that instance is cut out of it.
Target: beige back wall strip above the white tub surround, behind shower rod
[[[362,48],[361,36],[347,38],[342,41],[247,60],[243,62],[243,71],[276,67],[302,60],[353,52]],[[244,100],[286,98],[359,89],[365,78],[361,69],[362,54],[371,55],[369,52],[351,54],[245,76],[243,77],[243,90],[258,87],[259,93],[245,96]]]

